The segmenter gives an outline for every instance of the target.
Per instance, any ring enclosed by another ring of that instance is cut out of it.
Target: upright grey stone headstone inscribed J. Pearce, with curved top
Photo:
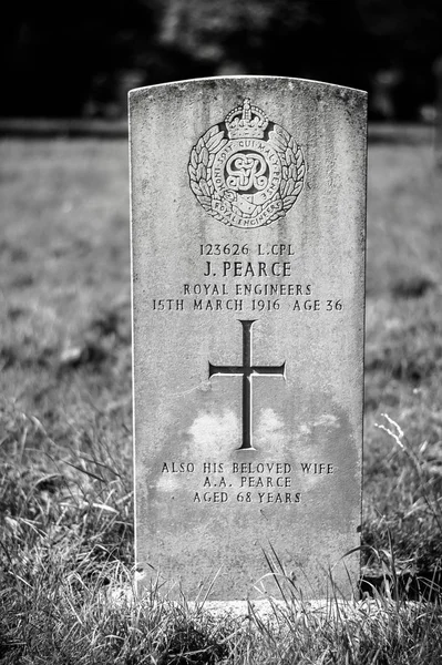
[[[141,589],[357,590],[366,102],[266,76],[130,94]]]

